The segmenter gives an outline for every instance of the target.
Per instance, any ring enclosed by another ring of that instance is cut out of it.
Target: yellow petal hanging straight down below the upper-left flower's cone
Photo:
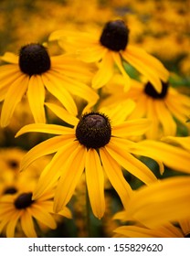
[[[28,83],[27,99],[35,123],[46,123],[44,109],[45,88],[40,76],[32,76]]]

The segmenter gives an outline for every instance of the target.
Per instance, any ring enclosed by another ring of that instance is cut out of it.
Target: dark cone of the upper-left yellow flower
[[[20,49],[19,67],[25,74],[40,75],[50,69],[51,62],[47,48],[40,44],[29,44]]]

